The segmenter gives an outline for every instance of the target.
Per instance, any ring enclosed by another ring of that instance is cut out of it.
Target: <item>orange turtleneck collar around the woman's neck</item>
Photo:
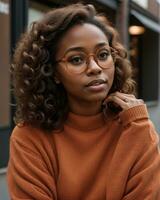
[[[105,121],[102,112],[91,116],[78,115],[70,112],[66,124],[75,129],[90,131],[102,127]]]

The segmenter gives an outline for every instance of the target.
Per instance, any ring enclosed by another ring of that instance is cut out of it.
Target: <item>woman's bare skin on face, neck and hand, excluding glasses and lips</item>
[[[98,27],[87,23],[75,25],[59,41],[56,60],[63,58],[64,55],[77,55],[77,52],[81,51],[87,54],[95,53],[97,45],[100,43],[105,43],[109,49],[108,38]],[[73,50],[73,48],[81,48],[81,50]],[[80,74],[73,74],[68,71],[65,62],[60,62],[57,65],[55,81],[64,85],[71,112],[79,115],[97,114],[101,112],[104,99],[105,103],[113,101],[122,109],[128,109],[142,103],[133,95],[120,92],[107,96],[113,83],[115,71],[111,55],[108,56],[106,65],[108,66],[107,69],[101,68],[92,56],[89,58],[87,69]],[[100,89],[87,87],[88,83],[97,79],[105,81]],[[126,99],[130,103],[126,102]]]

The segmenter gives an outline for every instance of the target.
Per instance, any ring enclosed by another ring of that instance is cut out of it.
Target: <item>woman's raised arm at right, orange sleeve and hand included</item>
[[[123,184],[121,200],[159,200],[159,138],[149,120],[146,106],[133,95],[120,92],[111,94],[107,102],[113,102],[122,109],[118,121],[123,127],[123,135],[117,145],[118,158],[115,156],[114,160],[116,162],[120,157],[122,159],[116,164],[121,166],[124,162],[124,165],[122,171],[118,167],[113,169],[117,172],[114,178],[120,177],[118,183]],[[116,190],[118,186],[112,184],[112,188]]]

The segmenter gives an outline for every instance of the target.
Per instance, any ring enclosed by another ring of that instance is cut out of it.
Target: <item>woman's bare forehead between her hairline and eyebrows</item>
[[[70,47],[94,48],[103,42],[108,44],[108,38],[99,27],[88,23],[75,25],[60,39],[58,54]]]

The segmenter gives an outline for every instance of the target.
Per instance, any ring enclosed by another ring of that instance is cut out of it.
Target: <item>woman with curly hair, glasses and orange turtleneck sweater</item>
[[[93,6],[35,22],[12,75],[11,199],[160,199],[157,134],[118,34]]]

